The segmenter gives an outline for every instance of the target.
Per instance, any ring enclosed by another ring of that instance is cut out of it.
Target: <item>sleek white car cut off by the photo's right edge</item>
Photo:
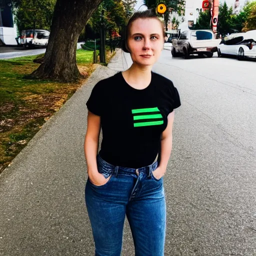
[[[217,46],[218,56],[230,55],[237,59],[256,58],[256,30],[233,33],[224,38]]]

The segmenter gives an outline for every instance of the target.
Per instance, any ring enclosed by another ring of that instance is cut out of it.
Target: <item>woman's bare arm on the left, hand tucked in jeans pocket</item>
[[[97,151],[100,132],[100,116],[88,111],[87,131],[84,138],[84,154],[90,181],[95,185],[102,185],[108,181],[97,169]]]

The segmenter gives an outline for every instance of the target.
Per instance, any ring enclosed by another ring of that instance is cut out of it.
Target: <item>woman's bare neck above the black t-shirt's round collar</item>
[[[132,63],[129,69],[122,72],[126,82],[135,89],[146,88],[151,81],[152,66],[139,66]]]

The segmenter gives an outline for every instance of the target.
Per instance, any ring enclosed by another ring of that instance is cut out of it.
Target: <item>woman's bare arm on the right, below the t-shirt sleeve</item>
[[[170,157],[170,152],[172,148],[172,126],[174,120],[174,110],[167,116],[168,123],[165,130],[162,132],[161,138],[161,157],[158,167],[154,170],[155,178],[161,178],[167,168],[167,163]]]

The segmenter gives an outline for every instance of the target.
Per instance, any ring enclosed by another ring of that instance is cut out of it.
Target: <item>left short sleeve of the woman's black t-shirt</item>
[[[102,115],[103,109],[103,84],[101,81],[96,83],[91,91],[88,101],[86,102],[86,106],[90,112],[93,114]]]

